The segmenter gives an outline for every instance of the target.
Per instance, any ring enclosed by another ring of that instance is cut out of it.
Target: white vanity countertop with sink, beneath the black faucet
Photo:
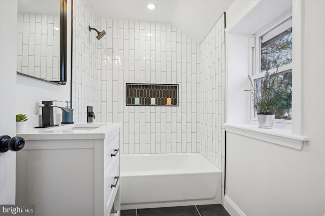
[[[118,131],[122,123],[75,123],[48,128],[34,128],[17,135],[25,140],[105,139]]]

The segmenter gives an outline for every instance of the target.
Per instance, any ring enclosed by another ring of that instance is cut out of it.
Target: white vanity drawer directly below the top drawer
[[[105,183],[104,183],[104,203],[106,204],[106,215],[108,212],[111,211],[111,208],[114,203],[114,199],[116,193],[118,191],[118,187],[120,185],[120,170],[119,170],[119,158],[117,158],[116,163],[112,171],[109,174],[105,175]]]

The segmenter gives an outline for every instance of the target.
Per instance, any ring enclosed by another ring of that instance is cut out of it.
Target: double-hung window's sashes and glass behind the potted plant
[[[252,80],[256,88],[261,86],[265,73],[276,73],[277,77],[289,83],[288,91],[284,92],[277,104],[275,119],[281,122],[291,120],[292,95],[292,19],[286,17],[270,26],[255,37],[255,67]],[[256,113],[252,111],[252,119]]]

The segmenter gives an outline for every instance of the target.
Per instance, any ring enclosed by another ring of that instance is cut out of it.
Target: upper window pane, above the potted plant
[[[261,37],[261,72],[292,62],[291,19]]]

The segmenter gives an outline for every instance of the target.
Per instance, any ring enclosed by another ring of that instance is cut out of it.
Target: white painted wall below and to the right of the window
[[[231,7],[231,12],[226,13],[240,14],[243,8],[254,4],[245,3],[244,7],[243,1],[235,1],[234,5],[241,7]],[[303,3],[302,116],[303,135],[309,137],[309,142],[299,151],[226,133],[225,194],[246,215],[325,213],[325,138],[322,135],[325,119],[321,115],[325,99],[319,97],[325,91],[322,63],[325,30],[319,27],[325,24],[322,13],[325,2]],[[232,20],[235,18],[228,17],[228,20],[236,23]]]

